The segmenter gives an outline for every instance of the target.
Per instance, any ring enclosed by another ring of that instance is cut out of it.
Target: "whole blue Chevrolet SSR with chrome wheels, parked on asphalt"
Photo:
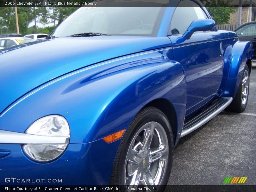
[[[180,137],[246,108],[252,56],[196,0],[79,8],[0,52],[0,184],[163,190]]]

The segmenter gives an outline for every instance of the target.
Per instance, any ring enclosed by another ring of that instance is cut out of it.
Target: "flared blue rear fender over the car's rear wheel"
[[[251,42],[236,41],[233,46],[230,45],[227,48],[224,55],[224,68],[226,67],[228,73],[222,97],[234,98],[236,96],[243,76],[244,65],[247,60],[252,60],[252,54],[253,47]]]

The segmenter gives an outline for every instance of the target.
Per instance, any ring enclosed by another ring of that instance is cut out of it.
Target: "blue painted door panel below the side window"
[[[214,98],[222,79],[220,33],[194,33],[190,39],[169,36],[174,60],[181,63],[187,80],[186,117]]]

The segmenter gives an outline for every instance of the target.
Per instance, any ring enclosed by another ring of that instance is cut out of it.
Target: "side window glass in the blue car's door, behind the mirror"
[[[184,34],[192,21],[197,19],[207,19],[202,8],[193,1],[181,1],[172,15],[168,35]]]

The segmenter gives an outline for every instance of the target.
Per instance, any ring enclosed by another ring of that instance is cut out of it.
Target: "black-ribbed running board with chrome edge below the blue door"
[[[213,117],[218,115],[232,102],[232,97],[222,97],[212,103],[210,106],[204,109],[204,111],[198,113],[196,116],[189,118],[184,122],[183,129],[180,137],[187,135],[188,133],[195,131],[198,127],[210,121]]]

